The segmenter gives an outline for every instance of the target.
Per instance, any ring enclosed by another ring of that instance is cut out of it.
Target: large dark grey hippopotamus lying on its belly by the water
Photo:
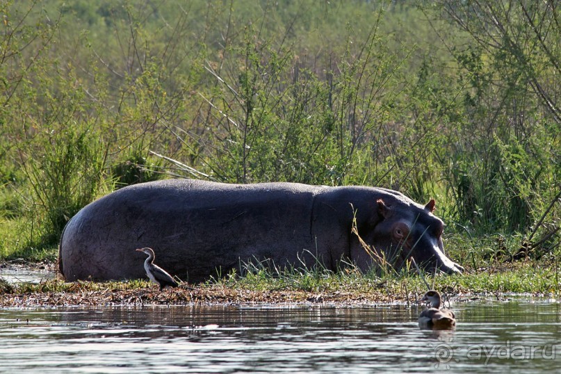
[[[275,268],[399,268],[460,273],[446,257],[434,200],[366,186],[225,184],[165,179],[116,190],[83,207],[63,230],[60,273],[68,281],[145,277],[156,262],[188,282],[241,272],[251,261]]]

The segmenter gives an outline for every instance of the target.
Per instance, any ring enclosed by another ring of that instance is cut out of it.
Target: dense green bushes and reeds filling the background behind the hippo
[[[0,15],[0,258],[54,259],[82,206],[177,175],[385,186],[435,197],[468,268],[558,255],[555,1],[1,1]]]

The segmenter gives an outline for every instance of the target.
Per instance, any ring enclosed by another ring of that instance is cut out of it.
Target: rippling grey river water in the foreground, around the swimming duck
[[[557,302],[453,305],[455,331],[406,307],[106,307],[0,310],[0,371],[64,373],[549,373]]]

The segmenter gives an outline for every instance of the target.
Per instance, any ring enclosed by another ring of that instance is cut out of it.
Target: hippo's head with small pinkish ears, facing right
[[[382,256],[383,252],[383,258],[394,268],[413,258],[425,270],[437,268],[448,274],[462,273],[464,268],[444,253],[444,222],[432,214],[434,205],[434,200],[425,206],[410,200],[377,200],[375,227],[362,239],[378,255]],[[357,254],[357,250],[353,252]],[[359,257],[364,259],[366,250],[363,248],[362,252]]]

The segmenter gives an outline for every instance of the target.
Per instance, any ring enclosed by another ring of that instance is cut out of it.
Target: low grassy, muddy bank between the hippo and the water
[[[412,274],[378,277],[349,271],[341,274],[290,272],[275,276],[256,273],[227,277],[204,284],[181,284],[158,291],[144,280],[127,282],[72,282],[49,280],[11,285],[0,281],[0,307],[109,306],[145,304],[315,304],[350,307],[368,304],[417,304],[425,280],[452,300],[493,298],[505,293],[549,295],[559,293],[555,263],[521,263],[480,269],[466,275]]]

